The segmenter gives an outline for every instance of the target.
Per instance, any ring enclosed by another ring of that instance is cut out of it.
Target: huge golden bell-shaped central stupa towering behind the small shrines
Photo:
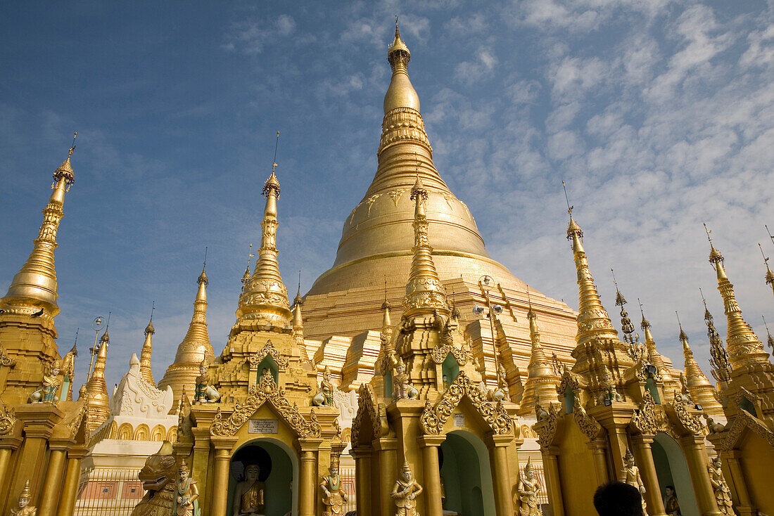
[[[385,286],[389,303],[400,305],[413,259],[410,224],[414,203],[410,196],[418,176],[427,192],[426,214],[434,235],[431,255],[440,284],[454,293],[454,304],[464,323],[473,323],[467,326],[468,333],[476,360],[485,364],[489,386],[495,387],[498,378],[496,341],[509,382],[509,398],[518,401],[531,356],[526,284],[489,257],[470,210],[449,190],[433,163],[420,97],[409,80],[410,59],[409,48],[396,27],[395,39],[387,51],[392,78],[384,97],[375,176],[361,202],[344,220],[334,265],[320,275],[304,298],[304,332],[310,356],[317,355],[315,347],[324,350],[326,357],[335,351],[341,357],[347,354],[348,363],[359,363],[365,369],[369,362],[366,356],[378,351],[377,343],[363,334],[368,330],[378,332],[382,327]],[[471,313],[474,306],[487,304],[485,285],[480,282],[484,276],[494,280],[494,288],[488,292],[491,303],[504,308],[495,321],[495,336],[488,320]],[[534,290],[530,294],[540,318],[546,353],[570,362],[574,311]],[[360,353],[347,352],[347,342],[353,337],[372,344],[373,349],[364,351],[361,357],[351,357],[352,353]],[[334,374],[338,374],[337,367],[341,366],[330,362]]]

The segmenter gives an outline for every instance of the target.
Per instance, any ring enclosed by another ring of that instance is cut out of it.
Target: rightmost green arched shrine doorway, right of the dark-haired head
[[[657,433],[651,445],[653,463],[656,465],[656,477],[659,480],[659,496],[666,494],[666,486],[674,486],[680,512],[683,516],[700,516],[699,507],[691,484],[688,463],[683,449],[675,439],[666,433]]]

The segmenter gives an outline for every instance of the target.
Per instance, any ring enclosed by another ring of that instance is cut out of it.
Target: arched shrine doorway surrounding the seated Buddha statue
[[[252,465],[259,466],[257,482],[263,484],[263,514],[298,514],[296,453],[289,449],[286,443],[265,438],[245,443],[231,456],[226,514],[234,514],[237,485],[245,481],[245,469]],[[220,487],[215,487],[218,488]]]

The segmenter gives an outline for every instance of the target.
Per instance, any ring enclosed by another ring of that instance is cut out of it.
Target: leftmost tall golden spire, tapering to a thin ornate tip
[[[54,267],[54,250],[57,248],[57,231],[63,216],[64,194],[75,183],[75,174],[70,165],[73,145],[67,159],[54,170],[53,193],[43,210],[43,224],[38,237],[33,241],[33,251],[22,268],[13,277],[8,293],[0,299],[0,309],[5,313],[54,317],[59,313],[57,306],[57,271]],[[43,311],[42,313],[41,310]]]

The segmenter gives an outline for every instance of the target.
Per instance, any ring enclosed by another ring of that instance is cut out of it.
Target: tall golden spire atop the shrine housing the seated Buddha
[[[279,131],[277,132],[279,145]],[[288,290],[279,275],[277,261],[277,198],[279,197],[279,181],[275,175],[275,162],[272,164],[272,175],[263,185],[263,196],[266,198],[263,220],[261,221],[261,248],[258,250],[258,261],[252,277],[245,283],[245,292],[239,297],[239,307],[236,311],[237,323],[247,320],[261,320],[274,326],[289,326],[291,313],[288,302]]]

